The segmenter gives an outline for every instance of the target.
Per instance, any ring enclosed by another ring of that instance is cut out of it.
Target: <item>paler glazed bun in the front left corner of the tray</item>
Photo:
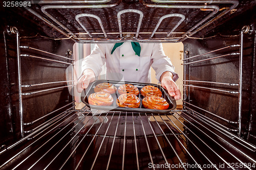
[[[111,106],[114,102],[112,95],[106,92],[96,92],[89,95],[88,103],[97,106]]]

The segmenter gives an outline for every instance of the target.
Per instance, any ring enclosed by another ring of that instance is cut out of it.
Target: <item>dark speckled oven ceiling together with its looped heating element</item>
[[[217,27],[239,1],[33,1],[26,9],[76,42],[180,42]]]

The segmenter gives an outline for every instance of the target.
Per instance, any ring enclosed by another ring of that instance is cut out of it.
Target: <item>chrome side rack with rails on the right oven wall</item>
[[[190,102],[183,100],[183,106],[190,110],[193,111],[195,113],[197,113],[197,115],[199,115],[200,117],[204,118],[204,120],[208,123],[214,123],[214,125],[216,127],[219,127],[220,129],[225,129],[227,131],[230,132],[237,132],[238,136],[241,137],[241,117],[242,117],[242,70],[243,70],[243,34],[244,34],[244,30],[241,30],[240,32],[240,44],[233,44],[233,45],[228,45],[225,47],[221,47],[218,48],[216,50],[212,50],[206,53],[202,53],[199,55],[195,55],[195,56],[188,56],[188,53],[185,53],[184,55],[184,59],[183,59],[183,65],[184,65],[184,80],[183,80],[183,91],[184,91],[184,95],[185,95],[185,91],[188,90],[189,88],[199,88],[199,89],[206,89],[206,90],[211,90],[211,91],[217,91],[217,92],[223,92],[223,93],[229,93],[229,94],[238,94],[238,120],[237,121],[232,121],[226,118],[223,118],[215,113],[212,113],[208,110],[205,110],[201,107],[196,106],[195,104],[191,104]],[[215,52],[222,52],[223,50],[231,50],[231,49],[236,49],[237,47],[239,47],[239,53],[228,53],[228,54],[224,54],[224,55],[218,55],[215,57],[207,57],[208,54],[213,54]],[[204,59],[197,59],[198,57],[204,57],[206,56]],[[201,63],[204,61],[208,61],[208,60],[214,60],[217,58],[221,58],[221,57],[229,57],[229,56],[239,56],[239,82],[231,82],[231,83],[223,83],[223,82],[211,82],[211,81],[201,81],[201,80],[186,80],[185,74],[186,74],[186,70],[190,70],[190,65],[193,64],[197,64],[197,63]],[[187,66],[187,68],[185,68],[185,66]],[[200,83],[200,84],[211,84],[211,85],[224,85],[226,87],[228,86],[233,86],[233,87],[238,87],[237,91],[234,90],[224,90],[224,89],[220,89],[220,88],[210,88],[210,87],[205,87],[203,85],[193,85],[193,83]],[[189,92],[188,92],[188,100],[189,100]],[[184,99],[185,96],[184,96]],[[202,113],[196,112],[195,109],[191,108],[197,108],[199,110],[201,110],[202,112],[208,114],[208,115],[212,115],[216,118],[218,118],[219,120],[222,120],[228,124],[230,124],[233,128],[227,127],[225,125],[222,125],[210,118],[208,118],[207,116],[203,115]],[[237,126],[237,127],[234,127]]]

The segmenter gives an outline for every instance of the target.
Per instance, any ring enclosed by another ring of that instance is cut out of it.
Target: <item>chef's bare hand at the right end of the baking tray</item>
[[[181,93],[177,84],[173,81],[172,72],[163,72],[160,78],[160,82],[163,88],[165,88],[170,96],[173,96],[176,101],[181,99]]]

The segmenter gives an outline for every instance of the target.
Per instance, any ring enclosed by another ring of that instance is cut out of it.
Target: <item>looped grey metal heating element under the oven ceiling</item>
[[[77,14],[73,18],[74,19],[73,23],[75,23],[77,21],[79,23],[79,25],[82,27],[82,29],[84,31],[86,31],[86,33],[82,33],[82,32],[75,33],[74,31],[70,30],[65,25],[63,25],[63,23],[61,23],[61,21],[59,21],[57,18],[55,18],[53,16],[53,14],[51,14],[49,12],[49,10],[52,11],[52,10],[61,10],[61,9],[92,9],[92,8],[95,8],[95,9],[109,8],[110,9],[110,8],[118,6],[121,3],[121,0],[118,0],[117,2],[115,2],[113,4],[109,4],[109,2],[111,2],[111,1],[98,1],[98,2],[95,2],[95,1],[67,1],[67,2],[65,2],[65,1],[40,1],[40,2],[38,2],[39,5],[55,4],[55,5],[41,6],[41,12],[43,14],[45,14],[47,17],[49,17],[51,20],[53,20],[55,23],[51,22],[50,20],[48,20],[47,18],[45,18],[44,16],[42,16],[41,14],[39,14],[38,12],[36,12],[35,10],[33,10],[29,7],[26,7],[26,9],[29,12],[31,12],[32,14],[34,14],[35,16],[37,16],[38,18],[44,20],[46,23],[48,23],[49,26],[56,29],[62,35],[65,35],[66,38],[63,38],[63,39],[68,38],[68,39],[74,40],[75,42],[83,42],[83,43],[85,43],[85,42],[122,42],[122,41],[124,41],[124,37],[122,36],[122,34],[131,34],[131,35],[135,34],[135,36],[132,37],[130,40],[137,41],[137,42],[182,42],[185,39],[190,38],[191,36],[196,34],[198,31],[202,30],[203,28],[209,26],[212,22],[215,22],[222,16],[226,15],[227,13],[232,11],[234,8],[236,8],[239,4],[238,1],[196,1],[196,2],[195,1],[185,1],[185,2],[184,1],[161,1],[161,0],[160,1],[159,0],[155,0],[155,1],[151,0],[151,1],[154,3],[158,3],[158,4],[147,4],[143,0],[140,0],[139,2],[144,7],[150,7],[150,8],[196,9],[196,10],[203,11],[203,12],[204,11],[205,12],[211,11],[211,12],[208,15],[206,15],[203,19],[201,19],[198,23],[196,23],[196,25],[194,25],[193,27],[191,27],[190,29],[188,29],[184,32],[174,32],[180,26],[182,21],[184,21],[184,19],[185,19],[185,16],[180,13],[166,14],[166,15],[163,15],[162,17],[160,17],[153,32],[140,32],[140,28],[142,25],[142,19],[143,19],[143,12],[140,10],[137,10],[137,9],[125,9],[125,10],[121,10],[117,13],[119,32],[109,32],[109,33],[105,32],[105,29],[104,29],[103,23],[102,23],[102,19],[99,16],[97,16],[95,14],[90,14],[90,13],[81,13],[81,14]],[[74,5],[68,5],[67,3],[74,4]],[[96,3],[96,4],[93,4],[93,3]],[[165,3],[165,4],[167,3],[167,5],[165,5],[163,3]],[[177,4],[177,3],[180,3],[180,4]],[[200,5],[194,5],[194,4],[187,5],[187,4],[191,4],[191,3],[198,3]],[[215,4],[215,5],[211,5],[211,4]],[[222,7],[222,8],[220,8],[218,6],[218,5],[223,5],[223,4],[225,4],[227,6]],[[231,6],[228,7],[230,4],[231,4]],[[140,15],[136,32],[122,32],[121,15],[124,13],[137,13]],[[216,15],[217,13],[218,13],[218,15]],[[84,17],[84,16],[96,18],[98,23],[95,23],[95,24],[96,25],[99,24],[99,26],[100,26],[99,29],[101,29],[102,32],[94,32],[94,33],[89,32],[89,30],[86,28],[84,23],[82,23],[79,20],[80,17]],[[107,17],[107,16],[105,16],[105,17]],[[173,27],[173,29],[170,30],[169,32],[167,32],[167,33],[164,33],[161,31],[157,32],[158,27],[161,24],[161,22],[163,21],[163,19],[169,18],[169,17],[179,17],[181,19],[176,23],[176,25]],[[145,18],[145,19],[147,19],[147,18]],[[112,18],[109,20],[112,20]],[[111,24],[115,24],[115,23],[111,23]],[[56,25],[59,27],[57,27]],[[99,35],[99,34],[103,34],[104,38],[98,38],[98,37],[93,36],[93,35]],[[113,38],[113,35],[118,36],[118,34],[120,35],[119,38],[117,38],[117,37]],[[139,34],[140,34],[140,36],[143,36],[143,38],[139,38],[138,37]],[[154,34],[161,35],[161,38],[153,38]],[[164,34],[166,34],[166,35],[164,35]],[[169,37],[171,34],[173,34],[174,37]],[[178,34],[179,36],[175,36],[175,34]],[[80,35],[88,35],[89,37],[80,37]],[[150,36],[147,36],[147,35],[150,35]],[[110,36],[112,38],[110,38]],[[193,37],[191,37],[191,38],[193,38]],[[126,39],[126,40],[128,40],[128,39]]]

